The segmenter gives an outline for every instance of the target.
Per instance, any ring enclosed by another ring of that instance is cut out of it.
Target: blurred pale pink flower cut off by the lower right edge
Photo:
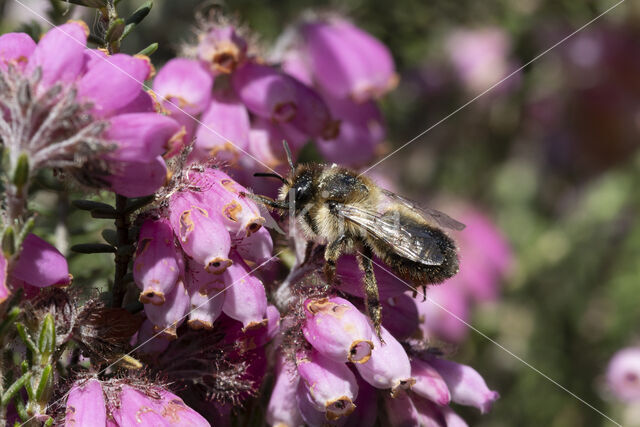
[[[606,380],[614,396],[625,402],[640,401],[640,347],[628,347],[613,355]]]

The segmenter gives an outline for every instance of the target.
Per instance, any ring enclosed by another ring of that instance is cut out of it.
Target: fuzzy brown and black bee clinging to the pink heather
[[[458,272],[456,245],[444,229],[464,224],[434,209],[378,187],[370,178],[335,164],[295,166],[284,143],[288,176],[257,173],[282,181],[279,197],[247,197],[281,212],[292,212],[310,242],[325,243],[324,274],[333,283],[336,262],[344,253],[356,254],[364,273],[367,314],[378,336],[382,322],[373,256],[401,279],[426,289]]]

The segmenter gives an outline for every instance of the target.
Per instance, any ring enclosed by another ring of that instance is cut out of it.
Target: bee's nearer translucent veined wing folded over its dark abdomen
[[[440,265],[444,255],[429,229],[401,223],[393,215],[337,204],[339,215],[391,246],[398,255],[425,265]]]

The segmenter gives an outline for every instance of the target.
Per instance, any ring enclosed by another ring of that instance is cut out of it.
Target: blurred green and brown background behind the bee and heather
[[[23,1],[54,23],[82,17],[98,25],[86,9]],[[141,3],[122,0],[121,14]],[[396,60],[399,86],[382,100],[382,151],[389,153],[614,4],[160,0],[123,51],[158,42],[152,60],[160,66],[193,38],[194,16],[211,8],[246,24],[263,46],[308,8],[339,10],[386,43]],[[0,14],[1,32],[37,35],[48,27],[12,0],[0,1]],[[495,295],[468,302],[465,318],[623,424],[640,420],[613,398],[603,376],[617,349],[640,340],[639,145],[640,2],[626,0],[372,171],[401,194],[462,214],[473,209],[495,224],[511,260]],[[40,185],[60,184],[42,177]],[[40,194],[43,230],[80,243],[103,228]],[[482,251],[483,241],[476,247]],[[71,255],[76,280],[106,284],[110,257],[88,258]],[[474,331],[448,347],[502,396],[485,416],[458,408],[471,425],[613,425]]]

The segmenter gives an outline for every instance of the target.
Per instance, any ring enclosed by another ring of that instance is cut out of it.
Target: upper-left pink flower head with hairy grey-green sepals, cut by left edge
[[[160,155],[180,138],[180,127],[148,109],[141,84],[153,72],[148,58],[89,50],[87,35],[84,23],[69,22],[37,45],[18,34],[0,39],[0,105],[8,124],[0,137],[12,168],[26,153],[31,174],[55,167],[127,196],[153,193],[166,180]],[[136,175],[140,169],[152,176]]]

